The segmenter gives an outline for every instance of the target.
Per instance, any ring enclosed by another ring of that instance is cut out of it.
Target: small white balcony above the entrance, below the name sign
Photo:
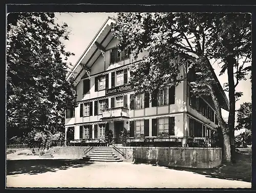
[[[116,120],[116,119],[127,119],[129,118],[129,109],[124,108],[123,106],[111,108],[103,111],[102,113],[102,120]]]

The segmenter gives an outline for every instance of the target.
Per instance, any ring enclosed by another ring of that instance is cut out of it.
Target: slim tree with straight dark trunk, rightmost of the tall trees
[[[210,28],[207,36],[206,54],[209,58],[219,58],[223,63],[220,75],[225,72],[228,75],[225,89],[229,97],[228,127],[231,155],[234,155],[236,101],[243,94],[236,92],[236,87],[241,80],[248,78],[247,75],[251,71],[251,65],[248,65],[251,62],[251,15],[222,13],[215,16],[213,24],[214,27]],[[232,160],[234,161],[234,158]]]

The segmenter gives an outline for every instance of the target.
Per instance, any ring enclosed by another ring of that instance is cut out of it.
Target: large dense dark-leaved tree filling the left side
[[[66,81],[67,62],[62,39],[67,24],[56,24],[54,13],[11,13],[7,18],[7,136],[61,138],[61,112],[76,106],[73,80]]]

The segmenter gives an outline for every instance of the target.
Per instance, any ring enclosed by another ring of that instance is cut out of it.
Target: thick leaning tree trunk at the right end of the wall
[[[212,98],[212,101],[214,101],[215,109],[216,109],[216,116],[218,119],[218,122],[221,127],[222,135],[223,135],[223,147],[222,147],[222,161],[230,162],[231,161],[231,148],[230,148],[230,138],[229,138],[229,128],[227,123],[223,120],[222,114],[221,114],[221,106],[220,103],[216,97],[216,93],[214,89],[212,88],[212,85],[209,85],[210,89],[210,95]]]

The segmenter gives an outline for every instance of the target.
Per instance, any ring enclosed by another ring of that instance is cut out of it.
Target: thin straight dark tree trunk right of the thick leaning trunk
[[[234,146],[234,121],[235,121],[235,112],[236,112],[236,99],[234,97],[234,74],[233,74],[233,65],[236,62],[236,59],[230,55],[227,59],[227,75],[228,75],[228,97],[229,97],[229,114],[228,114],[228,127],[229,127],[229,136],[230,136],[230,145],[231,145],[231,160],[236,162],[236,147]]]

